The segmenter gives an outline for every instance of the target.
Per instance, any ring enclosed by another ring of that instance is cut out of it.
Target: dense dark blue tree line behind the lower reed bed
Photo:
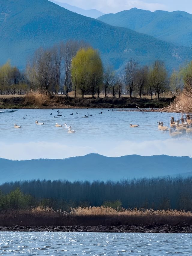
[[[192,177],[143,178],[120,182],[32,180],[0,185],[0,210],[78,206],[192,210]]]

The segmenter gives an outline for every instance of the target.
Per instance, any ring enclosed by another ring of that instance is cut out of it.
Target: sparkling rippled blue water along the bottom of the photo
[[[0,255],[192,255],[192,234],[0,232]]]

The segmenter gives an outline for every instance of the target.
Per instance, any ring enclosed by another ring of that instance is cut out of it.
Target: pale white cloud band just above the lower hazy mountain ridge
[[[122,155],[170,155],[192,157],[191,140],[153,140],[153,141],[122,141],[95,143],[94,146],[86,143],[82,145],[65,145],[63,143],[29,142],[29,143],[0,143],[0,158],[25,160],[37,158],[63,159],[81,156],[89,153],[118,157]]]

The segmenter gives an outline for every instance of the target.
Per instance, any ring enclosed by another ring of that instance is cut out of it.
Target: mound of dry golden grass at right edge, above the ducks
[[[169,107],[165,107],[162,111],[166,112],[192,112],[192,97],[186,95],[185,93],[180,93],[176,96],[176,99]]]

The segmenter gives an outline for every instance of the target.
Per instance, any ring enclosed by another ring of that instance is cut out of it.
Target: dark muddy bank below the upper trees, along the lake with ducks
[[[47,96],[42,98],[26,96],[0,97],[1,109],[16,108],[163,108],[169,106],[173,98],[66,98],[65,96]]]

